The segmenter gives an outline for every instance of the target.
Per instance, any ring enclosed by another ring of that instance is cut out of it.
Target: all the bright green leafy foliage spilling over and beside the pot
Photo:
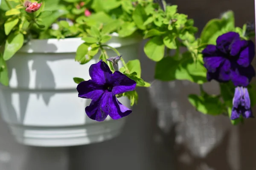
[[[186,14],[177,12],[176,5],[164,8],[153,0],[43,0],[41,8],[27,13],[23,0],[5,0],[0,6],[0,82],[8,85],[6,60],[10,59],[30,39],[81,37],[84,40],[76,52],[75,60],[86,64],[95,56],[107,62],[106,49],[120,55],[118,49],[107,45],[113,34],[118,37],[136,37],[148,40],[144,46],[146,56],[157,62],[155,79],[161,81],[189,80],[200,85],[201,94],[189,95],[189,102],[195,108],[211,115],[230,115],[234,87],[231,83],[219,84],[221,94],[207,94],[202,84],[207,82],[201,51],[208,44],[215,44],[221,34],[236,31],[241,38],[249,39],[246,25],[235,27],[232,11],[221,18],[210,20],[199,38],[195,37],[198,28],[194,20]],[[85,16],[89,10],[91,15]],[[60,20],[62,19],[62,20]],[[70,22],[72,24],[70,24]],[[58,27],[53,29],[52,24]],[[251,36],[251,35],[250,35]],[[182,48],[186,48],[185,52]],[[170,50],[175,54],[170,56]],[[2,52],[1,52],[2,51]],[[125,63],[119,69],[123,74],[137,82],[137,86],[149,87],[141,78],[138,59]],[[113,65],[107,62],[111,70]],[[75,77],[79,83],[82,78]],[[249,91],[253,90],[250,85]],[[256,95],[251,94],[251,104],[256,104]],[[131,105],[137,102],[138,94],[131,91],[119,96],[127,96]],[[233,124],[242,119],[232,121]]]

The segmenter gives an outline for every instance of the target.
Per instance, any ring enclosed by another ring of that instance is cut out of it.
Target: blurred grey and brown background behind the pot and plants
[[[233,10],[236,25],[254,21],[253,0],[172,0],[202,30],[209,19]],[[142,46],[143,47],[143,46]],[[143,79],[154,81],[154,62],[140,51]],[[207,91],[218,93],[214,82]],[[232,126],[227,117],[195,111],[186,96],[198,86],[154,81],[138,90],[139,105],[123,133],[110,141],[76,147],[17,144],[0,121],[0,170],[256,170],[256,123]],[[256,114],[256,108],[254,108]]]

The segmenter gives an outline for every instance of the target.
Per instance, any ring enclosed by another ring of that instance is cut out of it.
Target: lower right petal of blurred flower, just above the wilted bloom
[[[255,76],[255,71],[252,65],[248,67],[238,67],[231,70],[231,80],[235,86],[246,87],[251,79]]]

